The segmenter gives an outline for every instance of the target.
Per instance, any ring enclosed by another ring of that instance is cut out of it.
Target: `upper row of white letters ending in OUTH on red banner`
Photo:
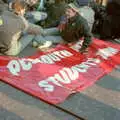
[[[32,64],[45,63],[45,64],[54,64],[61,59],[70,57],[73,54],[67,50],[55,51],[53,53],[42,55],[40,58],[36,59],[20,59],[20,60],[11,60],[7,68],[13,75],[19,75],[21,70],[29,71],[32,68]]]

